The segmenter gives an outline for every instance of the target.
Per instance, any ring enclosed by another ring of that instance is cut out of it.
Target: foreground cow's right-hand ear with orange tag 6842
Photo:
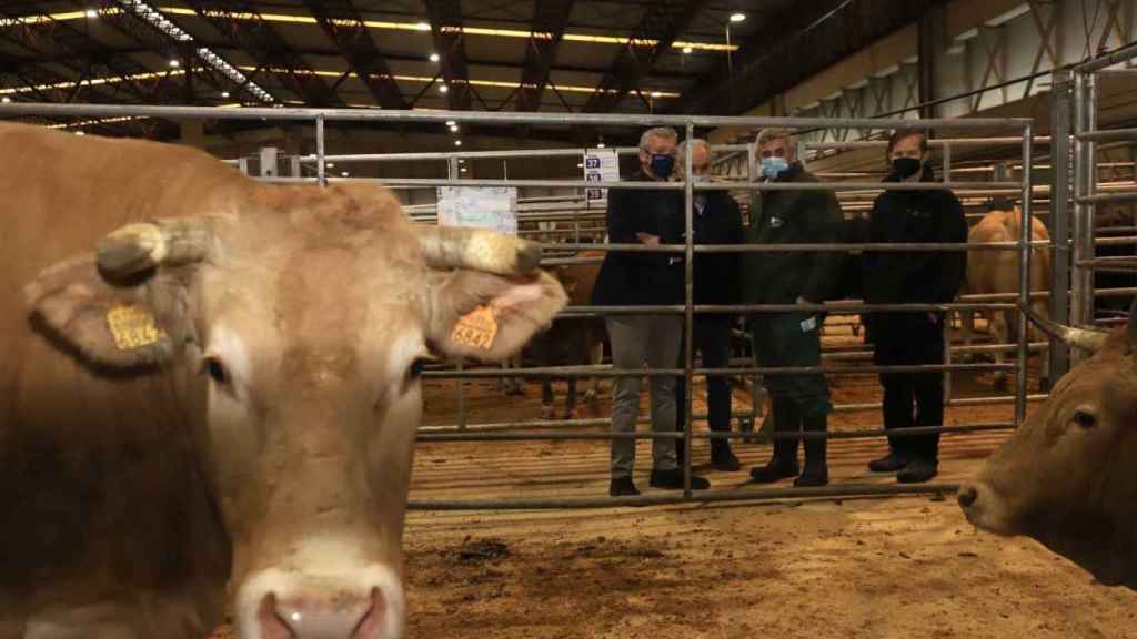
[[[547,329],[567,301],[543,271],[524,277],[454,271],[439,277],[429,293],[428,341],[450,357],[500,362]]]

